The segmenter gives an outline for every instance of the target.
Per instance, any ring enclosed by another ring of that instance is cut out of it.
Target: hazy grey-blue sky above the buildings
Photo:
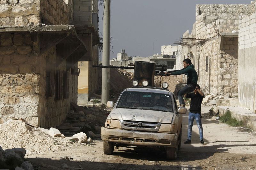
[[[161,54],[161,46],[172,45],[196,21],[196,4],[250,4],[251,0],[111,0],[110,59],[121,49],[129,56]],[[103,32],[103,6],[99,28]],[[100,56],[100,60],[102,57]]]

